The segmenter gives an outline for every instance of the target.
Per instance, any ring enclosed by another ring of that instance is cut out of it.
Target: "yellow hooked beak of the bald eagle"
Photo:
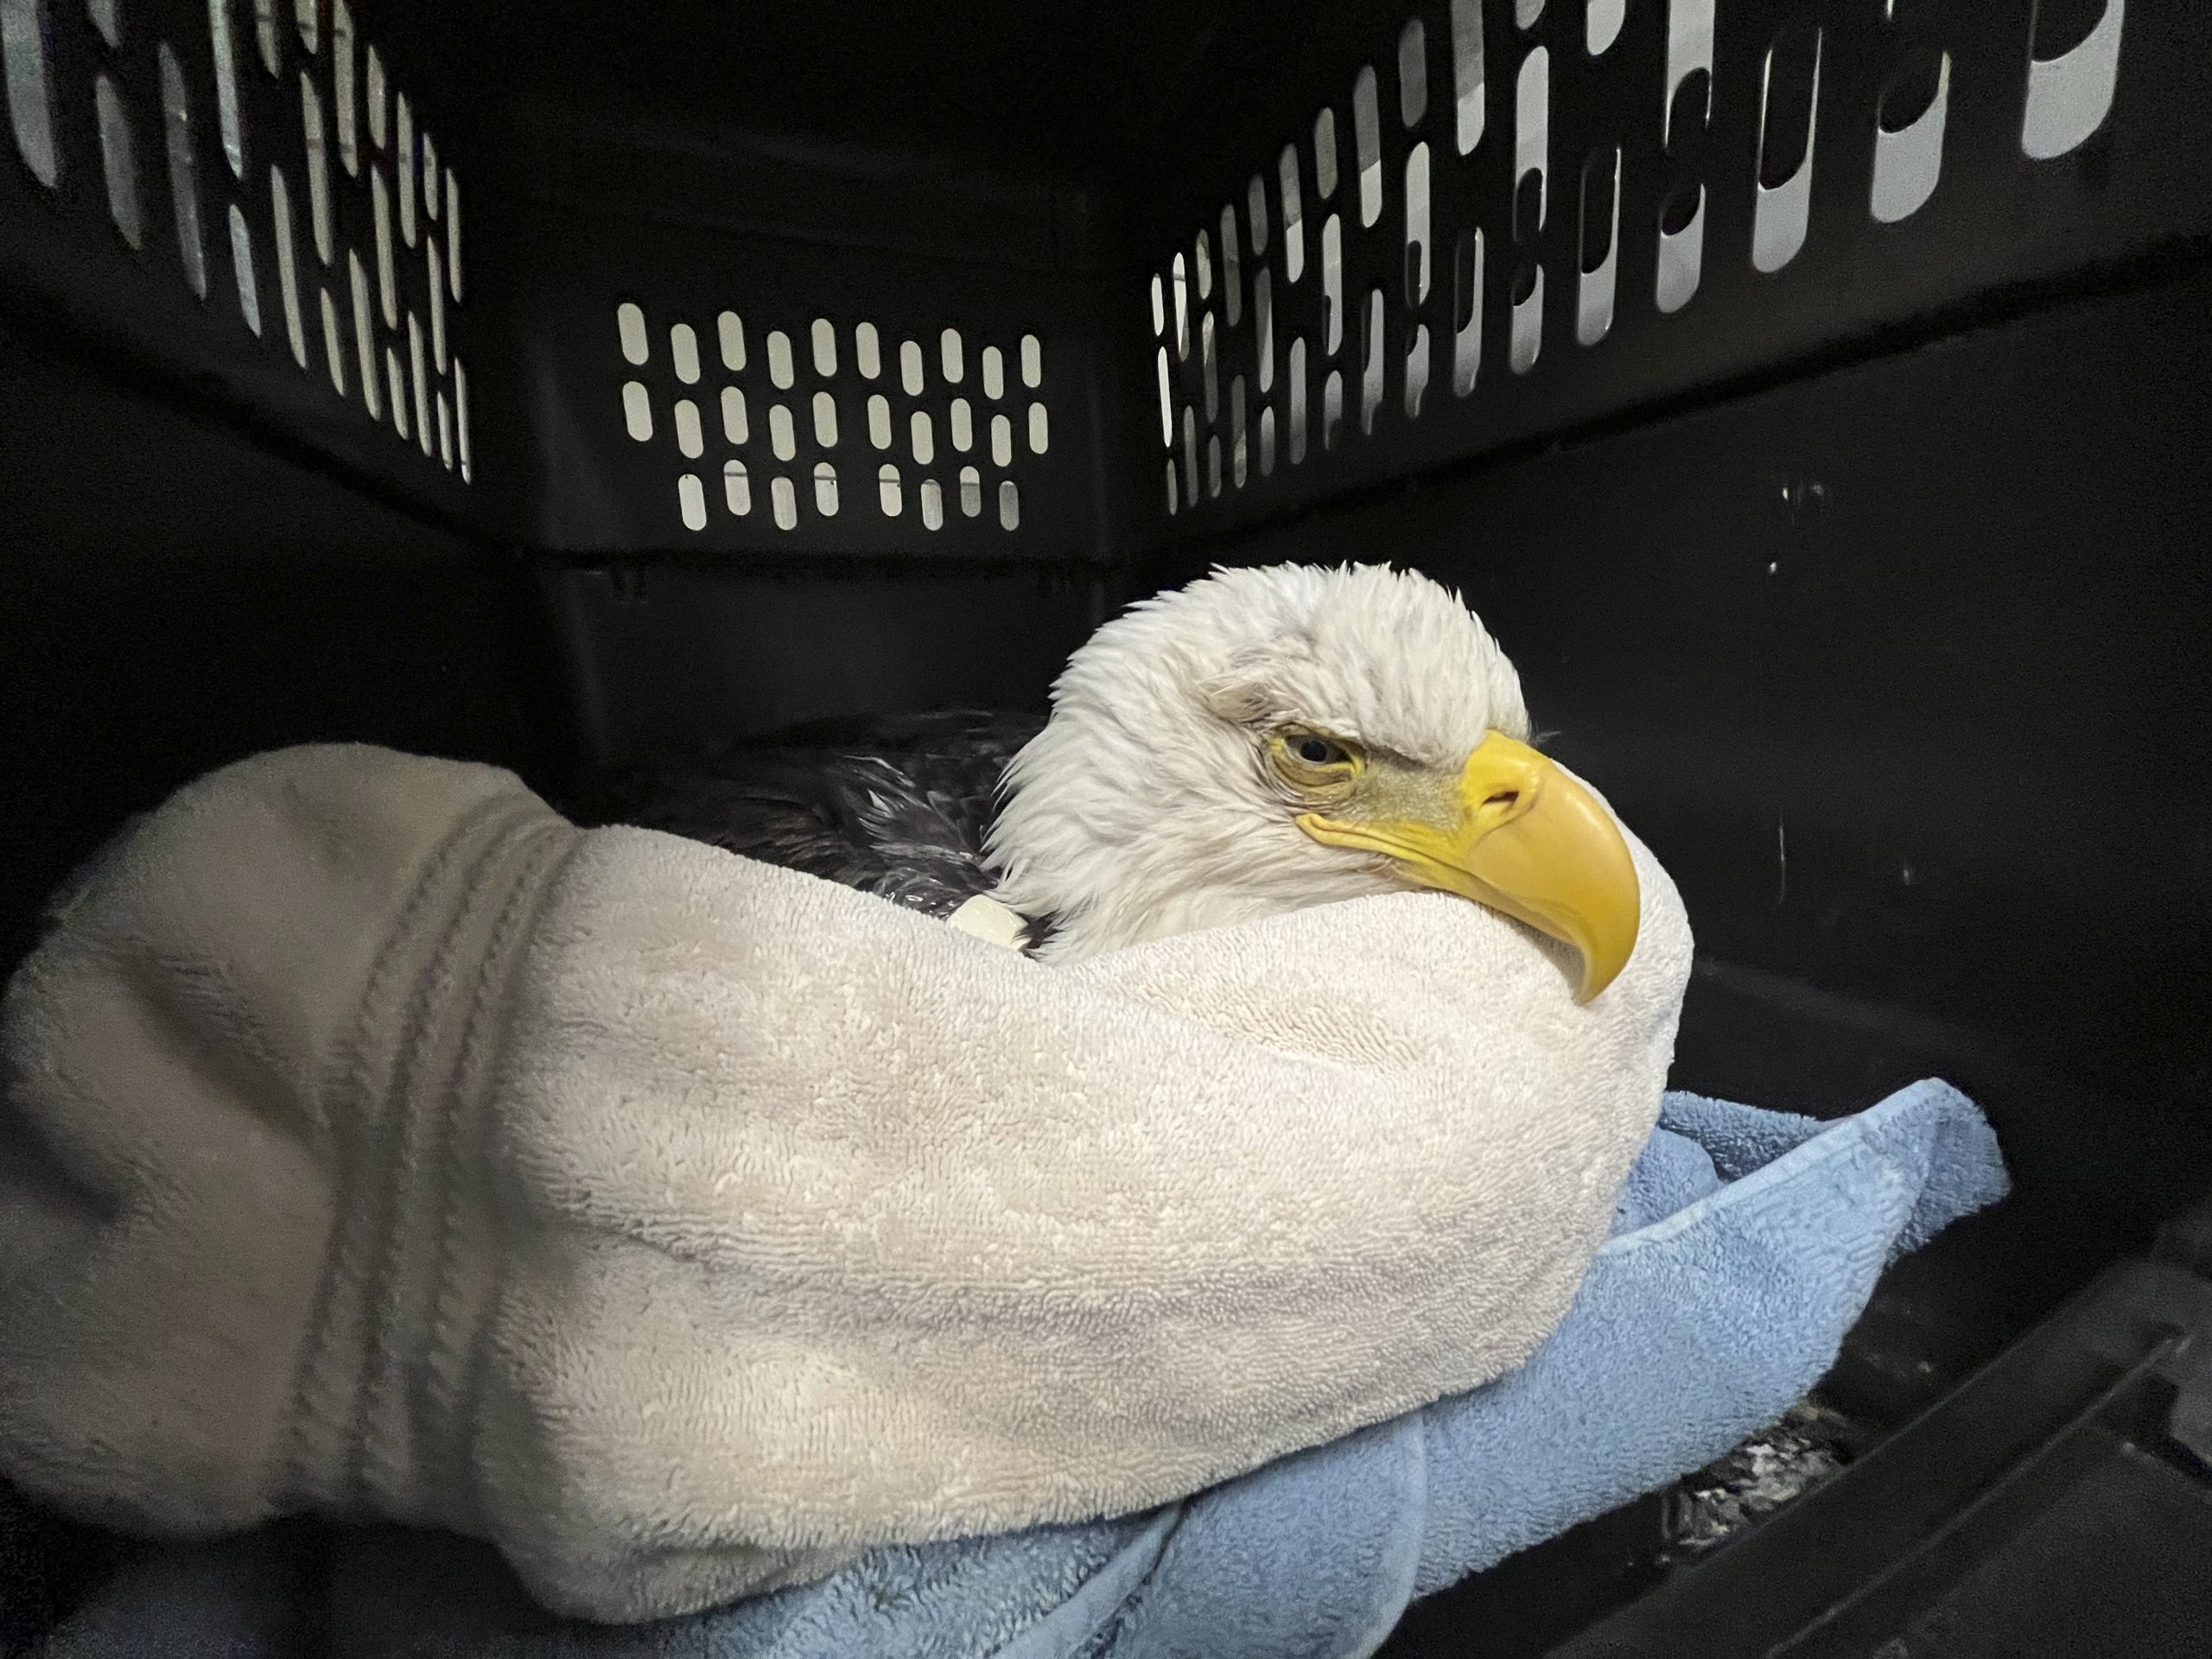
[[[1298,816],[1329,847],[1380,852],[1425,887],[1460,894],[1582,951],[1577,1002],[1628,967],[1641,891],[1613,814],[1582,783],[1504,732],[1467,757],[1438,814],[1369,823]]]

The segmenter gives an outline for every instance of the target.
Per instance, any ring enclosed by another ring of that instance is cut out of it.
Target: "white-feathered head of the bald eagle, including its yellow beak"
[[[1438,887],[1582,951],[1635,947],[1637,878],[1528,748],[1520,675],[1455,593],[1376,564],[1214,571],[1099,628],[1006,768],[998,898],[1046,958]]]

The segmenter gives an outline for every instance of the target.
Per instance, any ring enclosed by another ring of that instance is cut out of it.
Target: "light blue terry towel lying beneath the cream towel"
[[[296,1568],[296,1537],[259,1535],[142,1562],[49,1652],[274,1659],[301,1650],[305,1613],[343,1659],[1367,1655],[1413,1597],[1778,1418],[1882,1267],[2004,1190],[1995,1135],[1940,1082],[1834,1124],[1668,1095],[1613,1239],[1520,1371],[1152,1515],[876,1551],[821,1584],[628,1628],[553,1619],[476,1544],[338,1533],[325,1577]]]

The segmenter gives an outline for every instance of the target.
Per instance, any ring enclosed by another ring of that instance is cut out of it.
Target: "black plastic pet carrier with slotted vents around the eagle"
[[[1042,710],[1210,564],[1411,564],[1674,872],[1677,1079],[1942,1075],[2017,1190],[1887,1276],[1807,1495],[1630,1504],[1389,1652],[2212,1652],[2212,9],[0,0],[0,49],[9,962],[261,748],[584,812]],[[42,1617],[128,1548],[58,1537]]]

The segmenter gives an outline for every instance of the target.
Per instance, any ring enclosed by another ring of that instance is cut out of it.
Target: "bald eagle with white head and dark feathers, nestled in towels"
[[[597,816],[931,916],[991,900],[1046,962],[1405,887],[1573,947],[1599,995],[1639,891],[1606,807],[1535,745],[1520,675],[1451,591],[1389,566],[1223,568],[1102,626],[1051,717],[821,726],[608,781]],[[1818,1400],[1661,1500],[1701,1553],[1849,1460]]]

